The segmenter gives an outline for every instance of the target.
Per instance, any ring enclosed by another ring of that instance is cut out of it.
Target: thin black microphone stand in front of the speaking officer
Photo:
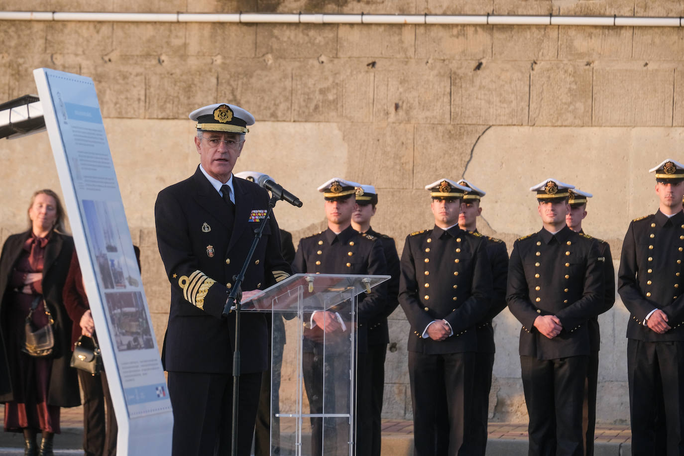
[[[238,290],[245,280],[245,273],[247,272],[247,267],[252,261],[252,256],[254,256],[254,250],[257,250],[257,245],[261,240],[261,233],[263,232],[264,226],[268,222],[268,219],[273,213],[273,208],[276,206],[276,202],[280,200],[282,195],[277,195],[272,192],[271,200],[268,202],[268,212],[266,216],[261,220],[261,225],[257,230],[254,230],[254,241],[252,242],[252,247],[250,252],[245,258],[245,263],[242,265],[242,269],[235,278],[235,285],[231,290],[231,294],[228,295],[228,300],[226,301],[226,306],[223,308],[223,316],[228,318],[228,314],[231,313],[233,307],[235,307],[235,351],[233,352],[233,428],[232,438],[231,438],[231,455],[237,456],[237,397],[239,396],[239,386],[240,386],[240,298],[238,297]]]

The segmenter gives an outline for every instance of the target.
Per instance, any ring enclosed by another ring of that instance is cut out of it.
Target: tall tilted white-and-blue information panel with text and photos
[[[121,455],[171,454],[159,349],[92,79],[34,70],[103,353]]]

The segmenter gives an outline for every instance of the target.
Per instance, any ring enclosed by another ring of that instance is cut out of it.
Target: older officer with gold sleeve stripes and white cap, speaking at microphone
[[[174,412],[173,455],[231,452],[235,317],[222,319],[233,276],[252,245],[253,229],[268,209],[268,192],[235,178],[248,111],[227,103],[190,114],[197,122],[200,165],[194,176],[159,192],[157,243],[171,282],[171,308],[162,362]],[[289,276],[280,253],[278,224],[271,217],[252,257],[243,297]],[[238,454],[249,455],[267,367],[268,330],[263,314],[241,317]]]

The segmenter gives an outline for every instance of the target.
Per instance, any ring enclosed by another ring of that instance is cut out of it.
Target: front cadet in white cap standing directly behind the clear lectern
[[[352,213],[356,206],[356,187],[360,184],[340,178],[332,178],[318,188],[325,198],[326,217],[328,229],[300,240],[295,254],[293,269],[306,273],[337,273],[337,274],[363,274],[384,275],[386,263],[382,251],[382,243],[370,234],[361,234],[352,228]],[[348,371],[348,361],[345,362],[344,353],[340,353],[339,359],[328,356],[330,364],[321,366],[319,353],[322,345],[316,340],[326,332],[326,337],[343,334],[350,321],[350,302],[341,304],[330,312],[313,312],[311,316],[311,329],[304,336],[304,386],[311,405],[311,413],[321,413],[323,396],[330,397],[332,394],[318,390],[319,381],[312,381],[322,377],[322,371],[334,371],[344,369]],[[357,336],[357,397],[356,403],[356,454],[365,455],[370,451],[369,423],[371,420],[371,403],[366,399],[370,397],[370,375],[365,372],[366,356],[368,353],[367,328],[369,321],[379,318],[386,306],[386,287],[380,284],[373,288],[371,293],[358,296],[358,321]],[[308,343],[308,346],[307,346]],[[328,348],[326,348],[328,349]],[[329,353],[328,353],[329,355]],[[340,371],[342,372],[342,371]],[[328,375],[328,373],[326,373]],[[334,375],[332,376],[334,377]],[[329,382],[328,382],[329,383]],[[329,388],[334,388],[328,385]],[[341,388],[339,388],[341,389]],[[348,393],[348,390],[347,390]],[[353,406],[353,404],[352,404]],[[312,445],[314,455],[333,455],[340,451],[346,451],[343,444],[347,442],[348,435],[339,435],[336,423],[332,419],[326,419],[321,423],[321,418],[311,418]],[[321,442],[323,427],[325,425],[325,448]]]

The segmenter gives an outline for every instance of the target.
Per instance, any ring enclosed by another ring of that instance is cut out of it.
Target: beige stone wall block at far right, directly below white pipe
[[[684,34],[673,27],[634,27],[635,59],[681,60]]]

